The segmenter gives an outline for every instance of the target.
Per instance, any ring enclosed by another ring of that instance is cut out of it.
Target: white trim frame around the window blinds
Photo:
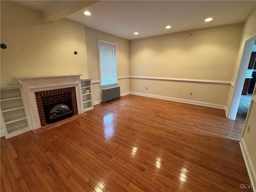
[[[114,48],[114,56],[115,56],[115,82],[111,83],[111,84],[106,84],[106,85],[102,85],[101,84],[101,66],[100,66],[100,43],[102,44],[107,44],[107,45],[111,45],[111,46],[115,46]],[[99,63],[99,75],[100,75],[100,88],[105,88],[105,87],[111,87],[111,86],[115,86],[118,85],[118,76],[117,76],[117,44],[116,43],[112,43],[112,42],[108,42],[108,41],[104,41],[104,40],[100,40],[98,39],[98,63]]]

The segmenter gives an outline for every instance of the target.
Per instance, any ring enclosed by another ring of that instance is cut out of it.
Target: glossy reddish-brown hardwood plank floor
[[[240,192],[244,122],[127,95],[39,134],[1,138],[1,192]]]

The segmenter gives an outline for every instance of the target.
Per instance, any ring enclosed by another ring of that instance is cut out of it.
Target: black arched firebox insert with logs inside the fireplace
[[[46,105],[48,120],[54,123],[74,115],[70,100],[64,100]]]

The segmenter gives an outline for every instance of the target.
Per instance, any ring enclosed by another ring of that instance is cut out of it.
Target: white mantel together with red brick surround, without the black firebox
[[[22,85],[28,127],[31,130],[46,125],[44,104],[71,100],[74,114],[84,112],[80,74],[61,76],[16,77]]]

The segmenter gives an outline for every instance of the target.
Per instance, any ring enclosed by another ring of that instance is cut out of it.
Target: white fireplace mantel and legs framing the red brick
[[[21,90],[22,95],[24,96],[22,99],[26,114],[28,114],[28,126],[31,130],[41,127],[35,92],[75,87],[78,114],[84,112],[80,76],[82,76],[82,74],[14,78],[22,85]]]

